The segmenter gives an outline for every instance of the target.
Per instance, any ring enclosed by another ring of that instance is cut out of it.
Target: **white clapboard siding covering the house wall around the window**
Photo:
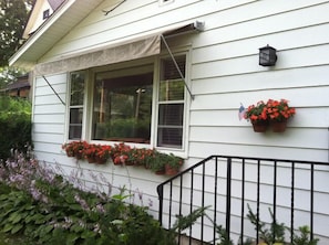
[[[111,2],[111,4],[115,1]],[[196,20],[205,21],[205,30],[197,34],[184,34],[171,40],[172,47],[189,47],[188,86],[194,99],[187,105],[189,115],[188,149],[184,168],[212,155],[260,157],[292,160],[329,161],[329,1],[326,0],[175,0],[161,6],[157,0],[125,1],[109,14],[109,1],[103,1],[74,29],[63,36],[39,62],[60,60],[91,49],[117,44],[134,38],[181,26]],[[258,49],[265,45],[277,49],[278,61],[274,67],[258,65]],[[38,73],[37,73],[38,76]],[[148,170],[89,164],[68,158],[61,146],[66,140],[65,116],[68,107],[68,74],[45,77],[58,93],[55,95],[43,77],[34,84],[33,140],[35,156],[49,164],[61,164],[64,174],[83,171],[81,179],[92,187],[91,174],[103,174],[117,190],[126,187],[134,193],[132,202],[153,203],[151,211],[157,215],[156,185],[166,180]],[[58,97],[60,96],[60,98]],[[286,98],[296,107],[296,116],[289,120],[284,134],[270,130],[253,131],[247,120],[239,120],[238,108],[258,100]],[[255,163],[246,172],[246,200],[255,205]],[[220,166],[225,172],[225,166]],[[238,238],[240,212],[240,163],[233,171],[233,232]],[[207,166],[206,203],[213,204],[214,169]],[[309,221],[307,167],[297,166],[296,224]],[[273,201],[273,168],[261,166],[261,216],[269,220],[268,206]],[[290,171],[280,166],[278,180],[278,221],[289,223]],[[224,173],[223,172],[223,173]],[[225,179],[220,172],[218,185],[218,217],[225,220]],[[201,204],[201,175],[196,171],[195,204]],[[328,244],[328,184],[329,168],[315,172],[315,231],[320,244]],[[174,185],[176,185],[175,182]],[[184,190],[191,187],[184,178]],[[174,189],[174,201],[178,192]],[[187,205],[188,193],[183,203]],[[141,204],[141,203],[140,203]],[[166,206],[166,205],[165,205]],[[254,206],[255,207],[255,206]],[[173,207],[175,209],[175,207]],[[186,207],[187,209],[187,207]],[[184,210],[184,209],[183,209]],[[175,213],[175,210],[173,210]],[[178,211],[177,211],[178,212]],[[166,211],[164,211],[166,214]],[[164,216],[166,220],[167,216]],[[236,224],[236,225],[235,225]],[[254,227],[246,222],[246,234],[254,235]],[[195,237],[198,237],[196,225]],[[207,231],[205,231],[207,234]]]

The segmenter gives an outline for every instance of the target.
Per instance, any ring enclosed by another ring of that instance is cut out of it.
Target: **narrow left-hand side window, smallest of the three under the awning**
[[[71,73],[69,139],[81,139],[82,136],[84,79],[84,72]]]

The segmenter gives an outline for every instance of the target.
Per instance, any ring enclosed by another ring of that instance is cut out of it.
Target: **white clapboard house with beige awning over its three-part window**
[[[10,60],[33,72],[35,156],[68,173],[102,172],[143,192],[153,212],[165,177],[76,164],[62,143],[125,141],[181,156],[185,168],[210,155],[328,161],[328,12],[326,0],[66,0],[27,26],[33,34]],[[258,64],[267,44],[274,66]],[[269,98],[296,107],[285,132],[254,132],[238,118],[240,104]],[[134,117],[141,130],[131,130]],[[113,124],[125,135],[113,137]],[[326,244],[329,166],[321,173]]]

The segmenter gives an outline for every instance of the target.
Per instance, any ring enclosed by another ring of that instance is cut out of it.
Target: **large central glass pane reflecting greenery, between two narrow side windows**
[[[93,139],[150,143],[153,73],[96,74]]]

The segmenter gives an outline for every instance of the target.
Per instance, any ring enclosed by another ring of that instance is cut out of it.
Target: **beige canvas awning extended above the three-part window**
[[[35,65],[34,71],[37,75],[47,75],[152,56],[161,52],[162,35],[177,35],[194,30],[199,30],[195,23],[187,24],[151,36],[148,35],[137,40],[80,53],[74,56],[63,57],[59,61],[41,63]]]

